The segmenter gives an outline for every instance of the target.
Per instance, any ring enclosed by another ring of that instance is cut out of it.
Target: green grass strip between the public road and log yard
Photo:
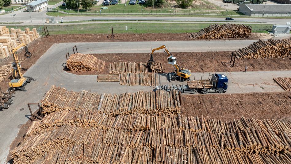
[[[48,25],[50,34],[109,34],[111,27],[114,33],[193,33],[208,27],[206,23],[96,23],[78,25]],[[265,29],[261,24],[250,24],[252,29]],[[125,26],[128,30],[125,31]],[[13,28],[13,26],[11,25]],[[8,26],[8,28],[11,28]],[[24,30],[25,27],[39,28],[39,26],[17,26]],[[260,31],[262,32],[262,31]]]

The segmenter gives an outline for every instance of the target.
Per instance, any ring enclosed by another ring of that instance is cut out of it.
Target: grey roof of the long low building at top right
[[[268,3],[268,2],[267,2]],[[246,6],[253,12],[290,12],[291,5],[285,4],[246,4]],[[265,8],[265,9],[264,9]]]

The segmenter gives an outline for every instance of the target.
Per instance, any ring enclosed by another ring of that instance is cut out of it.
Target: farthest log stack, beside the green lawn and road
[[[191,39],[247,38],[251,29],[247,25],[211,24],[197,33],[189,34]]]

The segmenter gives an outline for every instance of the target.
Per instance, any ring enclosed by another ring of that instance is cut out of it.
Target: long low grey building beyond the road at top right
[[[239,5],[239,11],[250,16],[291,16],[291,5],[281,4],[245,4]]]

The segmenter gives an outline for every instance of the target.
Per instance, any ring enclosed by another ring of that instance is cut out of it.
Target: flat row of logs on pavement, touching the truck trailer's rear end
[[[119,84],[156,86],[157,79],[156,73],[121,73]]]

